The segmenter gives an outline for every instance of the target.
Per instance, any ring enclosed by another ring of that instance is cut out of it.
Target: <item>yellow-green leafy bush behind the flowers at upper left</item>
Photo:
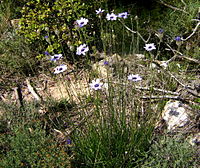
[[[95,21],[83,33],[78,29],[76,20],[81,17],[92,18],[95,6],[94,0],[54,0],[27,1],[22,9],[19,33],[38,48],[39,52],[48,51],[50,54],[64,52],[70,58],[74,46],[80,43],[91,43],[94,40]],[[46,38],[45,38],[46,37]],[[86,41],[87,39],[87,41]]]

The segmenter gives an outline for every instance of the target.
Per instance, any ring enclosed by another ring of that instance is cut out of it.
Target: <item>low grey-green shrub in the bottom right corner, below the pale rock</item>
[[[197,168],[199,158],[195,148],[183,138],[161,136],[151,146],[142,168]]]

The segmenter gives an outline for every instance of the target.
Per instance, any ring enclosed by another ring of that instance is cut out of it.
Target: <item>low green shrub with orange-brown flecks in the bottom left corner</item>
[[[5,139],[4,139],[5,140]],[[0,167],[68,167],[64,147],[57,145],[41,128],[18,127],[6,137],[8,149],[1,155]],[[9,143],[8,143],[9,142]],[[4,147],[5,148],[5,147]]]

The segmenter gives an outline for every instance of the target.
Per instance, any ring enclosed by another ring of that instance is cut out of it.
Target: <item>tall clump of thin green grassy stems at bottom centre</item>
[[[152,113],[141,114],[134,84],[108,85],[107,93],[95,92],[95,107],[74,131],[75,167],[134,167],[149,150],[155,121]],[[151,105],[144,108],[150,111]]]

